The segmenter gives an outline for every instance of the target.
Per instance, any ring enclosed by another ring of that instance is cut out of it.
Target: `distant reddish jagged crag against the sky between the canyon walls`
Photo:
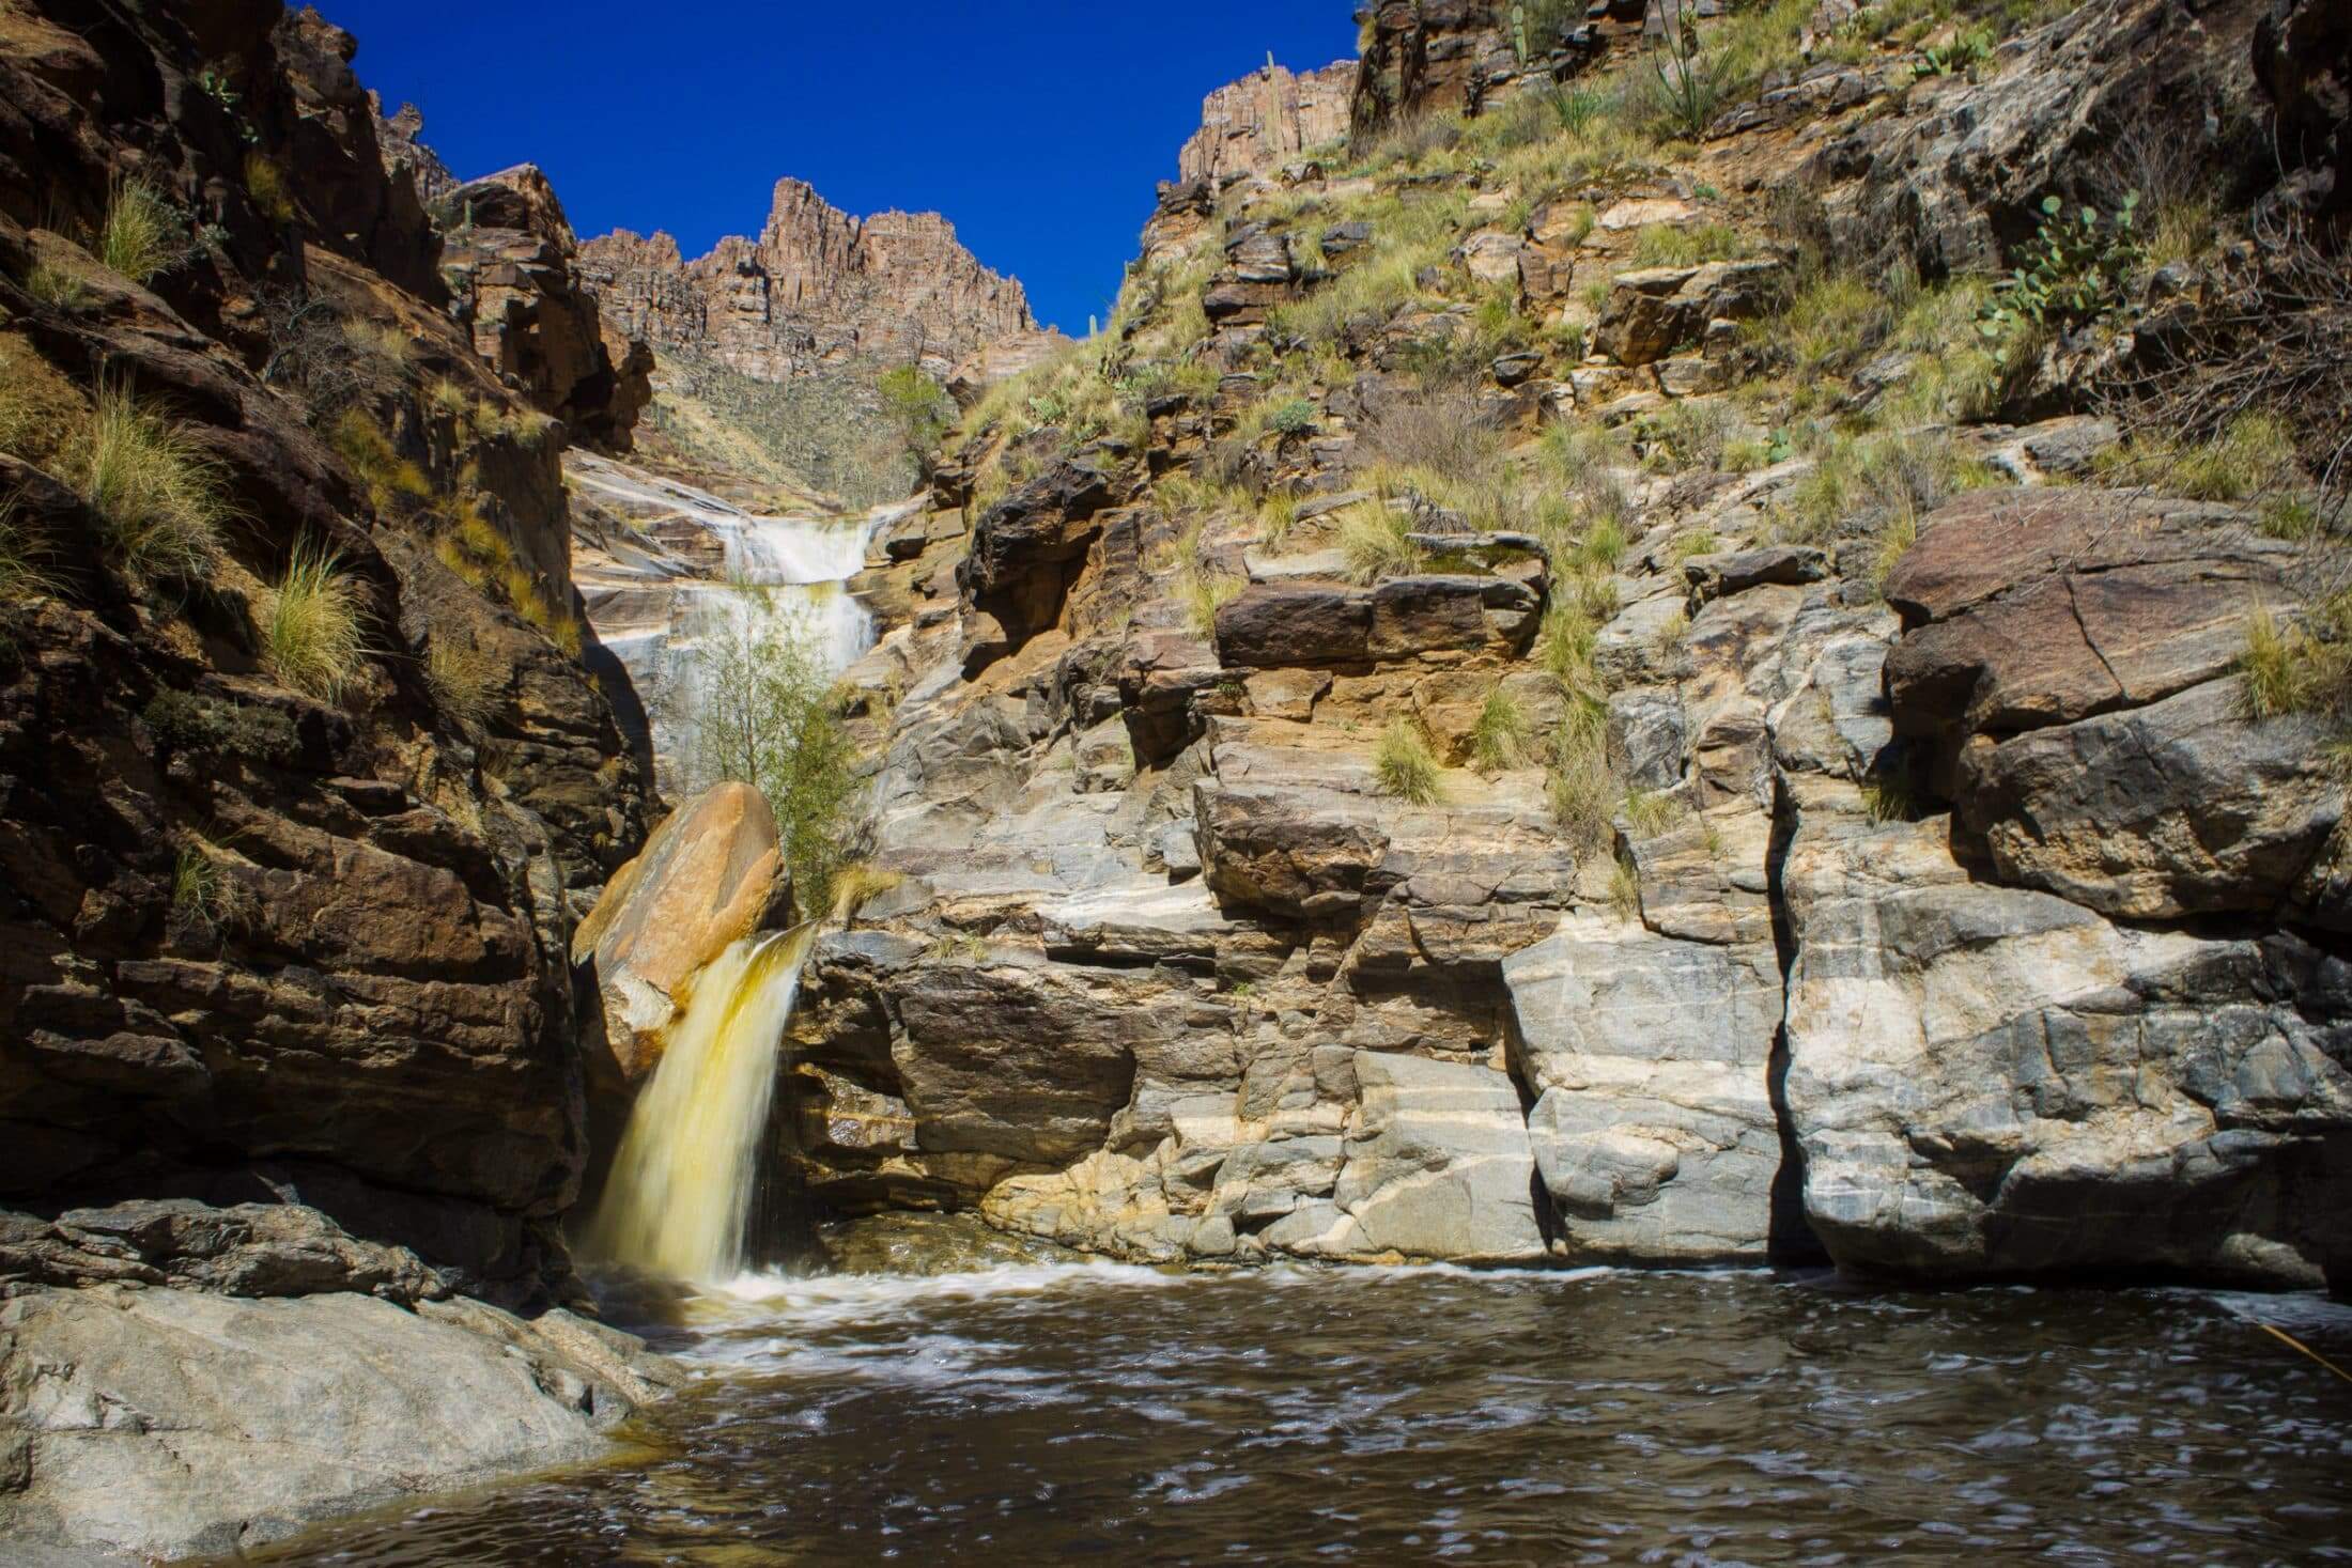
[[[581,270],[604,315],[656,353],[753,381],[842,364],[922,364],[946,381],[971,355],[1037,336],[1028,294],[983,268],[936,212],[854,219],[776,181],[757,240],[684,261],[670,235],[588,240]]]

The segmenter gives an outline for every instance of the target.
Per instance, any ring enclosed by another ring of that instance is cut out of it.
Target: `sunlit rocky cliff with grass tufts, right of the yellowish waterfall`
[[[2343,378],[2225,322],[2345,317],[2265,7],[1736,14],[1679,106],[1503,9],[1376,7],[1350,162],[1171,186],[880,536],[811,1185],[2340,1286]]]

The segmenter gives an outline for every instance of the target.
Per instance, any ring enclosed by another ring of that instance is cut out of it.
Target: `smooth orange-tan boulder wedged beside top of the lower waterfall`
[[[588,1058],[600,1077],[644,1079],[687,983],[729,945],[781,924],[790,893],[760,790],[722,783],[673,811],[572,938],[572,961],[593,971],[604,1009],[602,1051]]]

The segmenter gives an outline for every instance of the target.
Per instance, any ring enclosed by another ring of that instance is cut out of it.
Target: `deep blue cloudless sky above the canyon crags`
[[[1073,334],[1176,176],[1211,87],[1355,54],[1350,0],[315,0],[459,179],[536,162],[586,235],[687,256],[793,174],[856,214],[943,212]]]

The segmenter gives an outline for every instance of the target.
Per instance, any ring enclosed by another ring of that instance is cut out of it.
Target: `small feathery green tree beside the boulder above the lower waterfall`
[[[757,588],[729,595],[703,639],[689,715],[694,788],[739,780],[767,797],[804,912],[833,907],[833,879],[854,858],[856,748],[814,642]]]

